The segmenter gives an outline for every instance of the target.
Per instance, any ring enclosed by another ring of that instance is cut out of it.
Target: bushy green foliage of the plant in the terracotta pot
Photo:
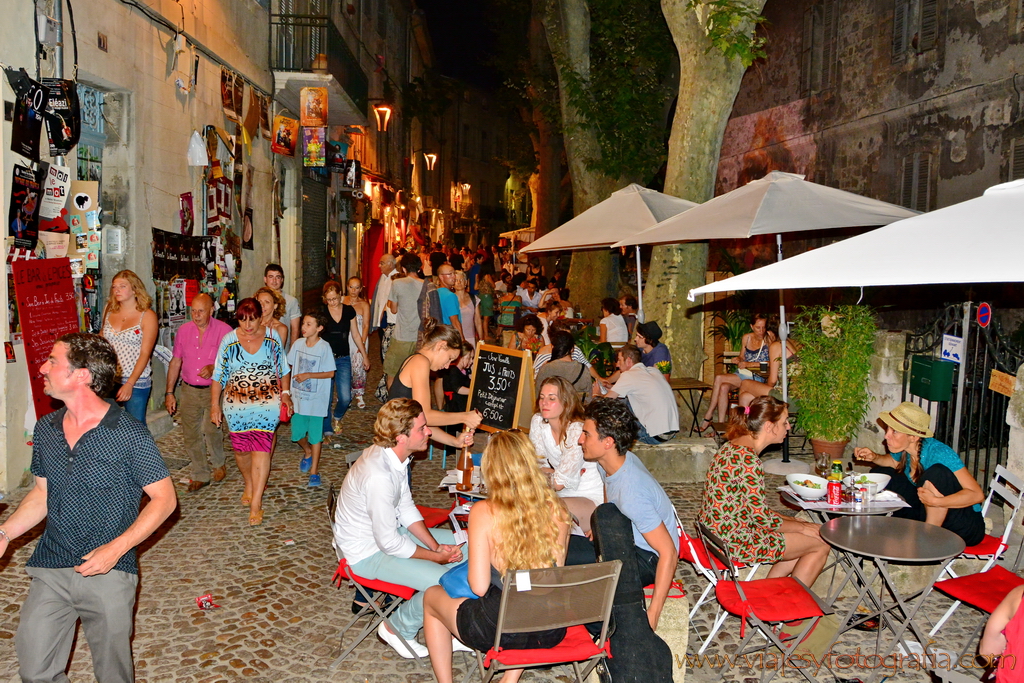
[[[851,438],[867,412],[867,376],[874,348],[874,312],[867,306],[812,306],[795,321],[800,344],[793,395],[797,420],[811,438]]]

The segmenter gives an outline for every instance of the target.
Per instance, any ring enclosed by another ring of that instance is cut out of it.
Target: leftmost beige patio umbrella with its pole
[[[610,247],[618,240],[642,232],[652,225],[695,206],[697,205],[693,202],[632,183],[611,193],[608,199],[562,223],[558,228],[523,247],[520,252]],[[637,247],[637,294],[640,304],[637,319],[642,323],[643,287],[641,285],[640,248]]]

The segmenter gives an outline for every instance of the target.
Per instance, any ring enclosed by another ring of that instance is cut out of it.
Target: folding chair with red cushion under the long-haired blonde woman
[[[522,590],[516,575],[505,574],[502,603],[498,612],[495,644],[476,652],[476,663],[483,683],[502,671],[571,665],[577,683],[586,678],[601,659],[610,654],[608,620],[618,585],[621,560],[547,567],[529,570],[528,590]],[[601,633],[595,642],[585,624],[600,622]],[[501,646],[506,633],[530,633],[565,628],[565,638],[547,649],[509,649]],[[472,670],[463,681],[468,681]]]

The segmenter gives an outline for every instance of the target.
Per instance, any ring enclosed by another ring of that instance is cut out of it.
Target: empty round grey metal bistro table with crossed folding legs
[[[849,631],[855,624],[878,616],[880,628],[876,636],[876,653],[883,659],[889,656],[898,644],[903,646],[905,652],[912,651],[903,637],[907,629],[918,638],[918,642],[927,653],[928,634],[914,622],[914,617],[925,604],[942,570],[954,557],[964,552],[966,547],[964,540],[940,526],[899,517],[846,516],[822,524],[820,532],[825,543],[841,552],[841,562],[847,567],[843,583],[835,595],[829,596],[830,601],[835,602],[835,598],[848,582],[856,581],[860,585],[857,600],[840,622],[836,638],[829,643],[826,651],[831,649],[841,634]],[[870,575],[865,575],[869,565],[865,562],[865,566],[862,567],[860,558],[870,560],[874,564],[874,571]],[[903,596],[889,573],[890,562],[935,564],[936,569],[928,585],[916,595]],[[876,594],[871,584],[880,575],[883,589]],[[888,607],[885,604],[886,589],[896,600],[895,604]],[[857,615],[857,607],[863,603],[865,597],[870,600],[871,605],[868,606],[873,611],[866,615]],[[893,613],[896,609],[902,614],[902,621],[897,620]],[[884,653],[878,651],[882,644],[883,623],[894,636],[892,645]]]

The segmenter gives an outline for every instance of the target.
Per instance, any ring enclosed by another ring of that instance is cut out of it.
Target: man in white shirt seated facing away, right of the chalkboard
[[[672,388],[655,368],[640,362],[640,349],[627,344],[618,349],[615,368],[618,381],[612,385],[607,398],[625,398],[640,423],[637,440],[641,443],[664,443],[679,432],[679,408],[672,395]],[[594,386],[599,396],[599,387]]]

